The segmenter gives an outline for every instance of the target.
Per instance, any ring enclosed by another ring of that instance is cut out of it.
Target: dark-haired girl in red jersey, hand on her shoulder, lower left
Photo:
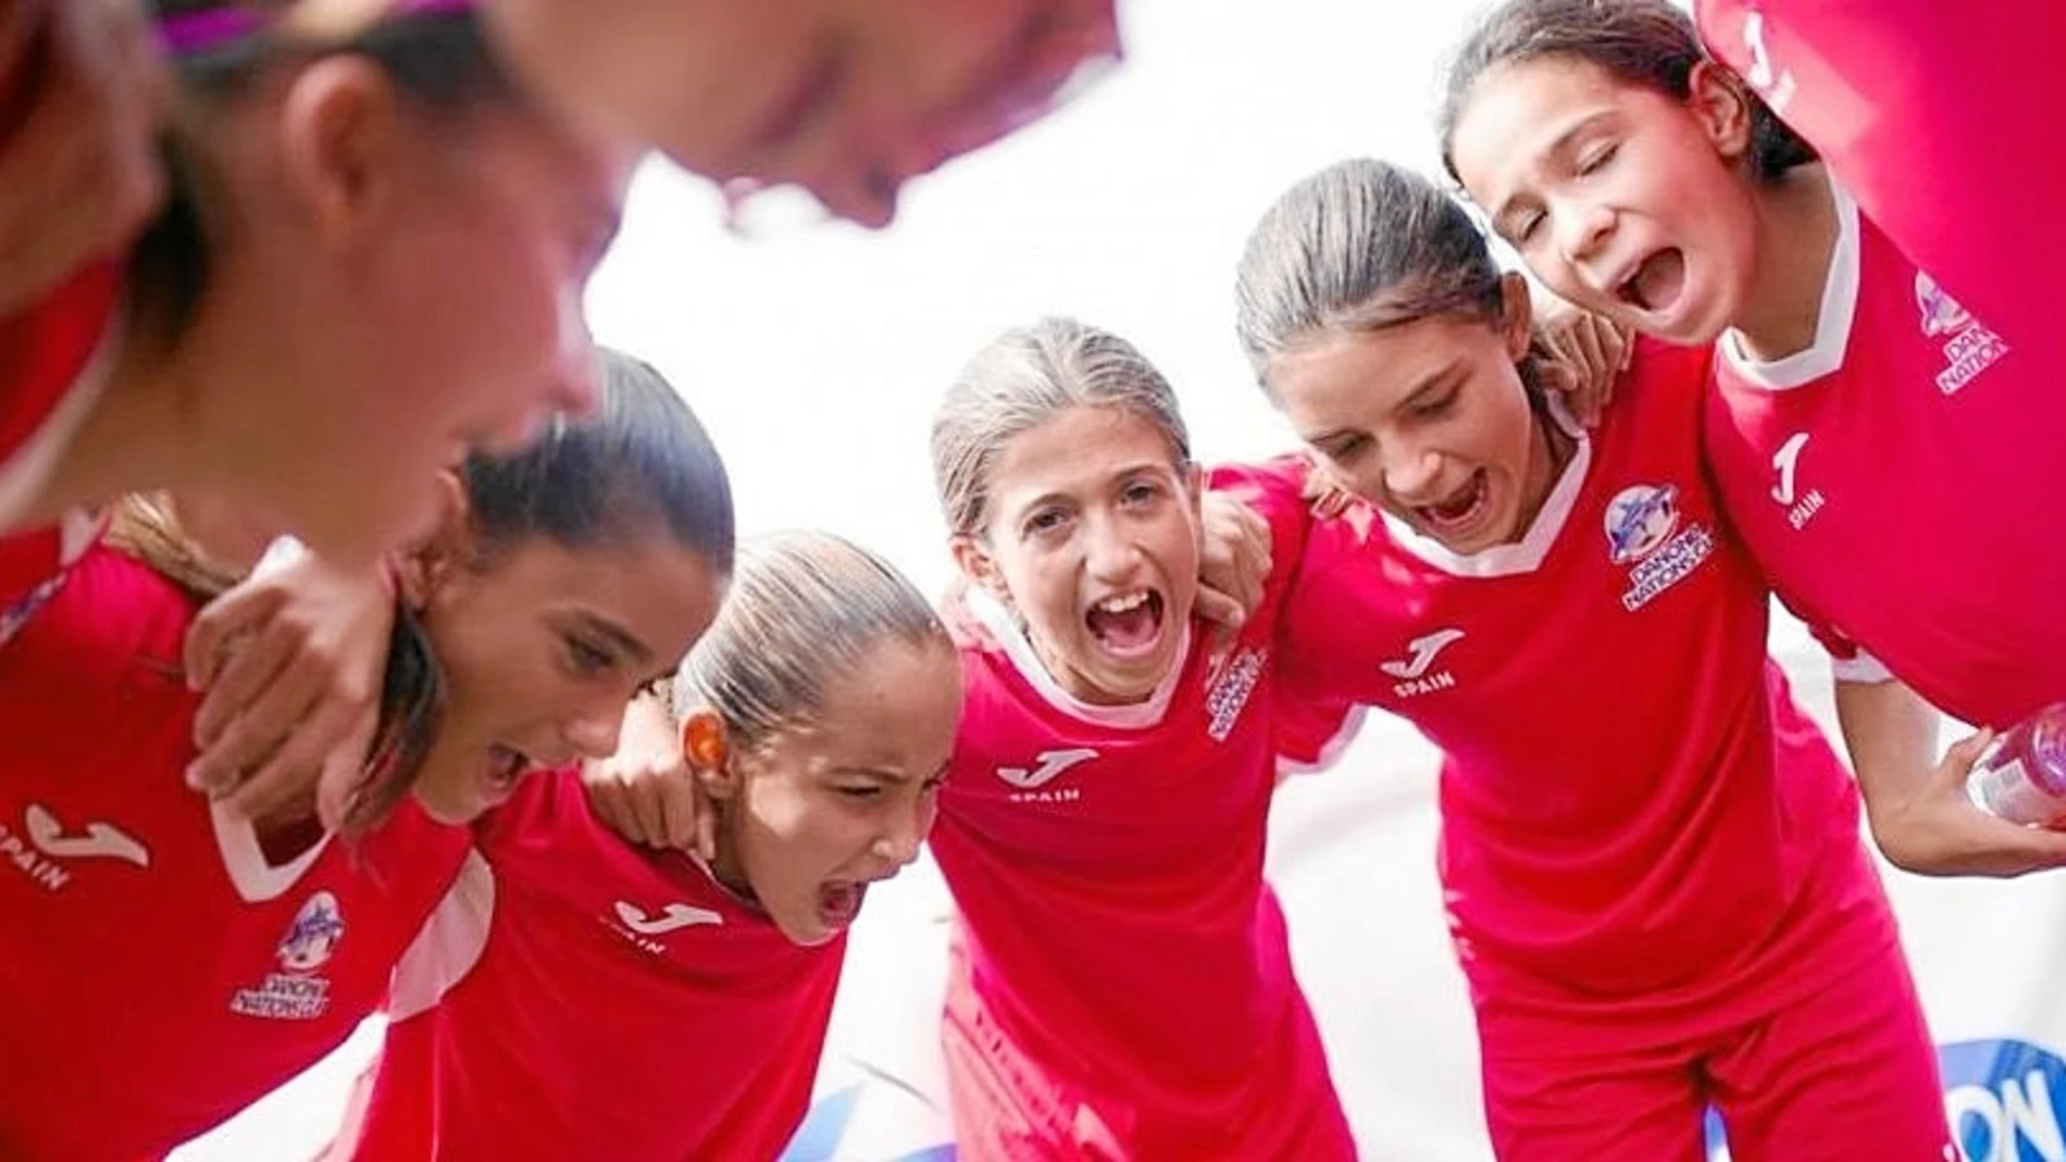
[[[0,648],[0,1158],[157,1156],[320,1059],[459,873],[465,832],[440,824],[616,747],[630,696],[715,613],[731,504],[674,390],[605,367],[597,417],[471,458],[407,559],[403,646],[430,658],[399,663],[436,687],[397,696],[419,714],[397,716],[351,844],[306,805],[250,821],[180,778],[180,640],[227,570],[169,553],[161,522],[118,520],[126,549],[91,549]]]

